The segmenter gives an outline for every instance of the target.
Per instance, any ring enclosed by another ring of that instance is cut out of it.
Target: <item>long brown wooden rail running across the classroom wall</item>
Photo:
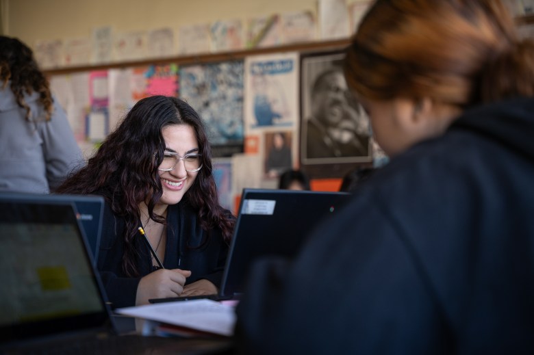
[[[249,55],[262,55],[270,53],[283,53],[283,52],[312,52],[312,51],[325,51],[329,49],[342,49],[350,44],[349,38],[343,38],[340,40],[329,40],[322,42],[305,42],[298,44],[288,44],[277,47],[244,49],[242,51],[231,52],[219,52],[219,53],[202,53],[195,55],[179,55],[175,57],[167,58],[151,58],[147,60],[138,60],[131,62],[115,62],[108,64],[97,64],[87,66],[69,66],[64,68],[50,68],[42,70],[44,75],[62,75],[69,73],[79,73],[93,70],[107,70],[114,68],[130,68],[135,66],[147,66],[147,65],[160,65],[160,64],[206,64],[216,62],[226,62],[230,60],[240,60]]]

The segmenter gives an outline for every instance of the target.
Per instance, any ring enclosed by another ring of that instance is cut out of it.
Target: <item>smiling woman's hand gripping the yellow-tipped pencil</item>
[[[136,306],[148,304],[151,298],[178,297],[189,276],[191,272],[182,269],[159,269],[151,272],[139,281]]]

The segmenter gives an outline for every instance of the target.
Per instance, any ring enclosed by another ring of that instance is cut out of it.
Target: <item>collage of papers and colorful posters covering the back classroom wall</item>
[[[300,128],[309,116],[306,101],[312,81],[339,64],[343,54],[331,49],[251,51],[236,60],[188,64],[173,62],[173,58],[346,39],[370,2],[318,0],[313,10],[259,14],[246,21],[192,23],[177,29],[118,31],[110,24],[93,27],[92,34],[84,38],[48,38],[29,44],[86,157],[141,98],[164,94],[188,101],[207,124],[220,202],[236,211],[242,188],[277,187],[281,170],[273,174],[267,162],[278,133],[290,152],[287,168],[301,168]],[[532,8],[529,1],[508,2],[518,15]],[[72,70],[58,70],[64,68]],[[364,120],[369,131],[368,118]],[[347,166],[372,165],[383,159],[370,140],[368,154],[340,161],[344,170],[333,168],[339,164],[320,162],[322,174],[310,175],[312,189],[338,189]]]

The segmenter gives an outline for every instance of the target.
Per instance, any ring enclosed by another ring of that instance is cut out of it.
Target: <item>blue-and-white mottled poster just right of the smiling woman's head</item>
[[[179,96],[205,120],[214,155],[243,151],[243,62],[181,66]]]

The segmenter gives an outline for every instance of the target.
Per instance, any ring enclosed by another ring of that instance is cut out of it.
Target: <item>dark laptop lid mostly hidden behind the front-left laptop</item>
[[[19,192],[2,192],[3,200],[39,200],[49,203],[73,203],[76,217],[81,224],[82,232],[89,245],[89,250],[97,265],[102,220],[104,213],[104,198],[96,195],[73,195],[73,194],[25,194]]]

